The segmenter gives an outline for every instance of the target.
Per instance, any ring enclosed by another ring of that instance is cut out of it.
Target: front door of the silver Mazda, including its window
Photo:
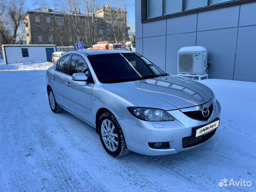
[[[88,81],[73,81],[72,75],[81,72],[88,74]],[[89,123],[93,123],[91,118],[93,86],[90,70],[84,58],[72,54],[68,75],[65,78],[66,108]]]

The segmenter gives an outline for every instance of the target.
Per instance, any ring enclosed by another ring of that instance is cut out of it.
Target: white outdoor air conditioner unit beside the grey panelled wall
[[[178,73],[202,75],[206,73],[207,69],[206,48],[193,46],[182,47],[178,50]]]

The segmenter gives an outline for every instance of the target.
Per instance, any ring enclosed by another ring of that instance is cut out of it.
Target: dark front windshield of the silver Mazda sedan
[[[168,75],[137,53],[88,55],[97,78],[102,83],[116,83]]]

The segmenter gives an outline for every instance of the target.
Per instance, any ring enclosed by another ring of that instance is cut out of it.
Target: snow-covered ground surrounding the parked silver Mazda
[[[199,148],[114,159],[95,129],[49,107],[51,63],[0,65],[0,191],[256,191],[256,83],[208,79],[220,127]],[[251,187],[218,186],[240,178]]]

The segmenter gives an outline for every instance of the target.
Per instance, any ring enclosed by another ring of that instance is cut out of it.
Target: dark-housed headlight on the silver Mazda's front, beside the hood
[[[174,118],[164,110],[142,107],[127,107],[128,111],[143,121],[174,121]]]

